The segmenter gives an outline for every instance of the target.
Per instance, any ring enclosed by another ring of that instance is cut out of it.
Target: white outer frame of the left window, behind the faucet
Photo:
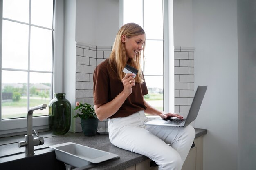
[[[63,35],[64,35],[64,3],[65,0],[54,0],[54,59],[53,59],[53,91],[63,91]],[[0,0],[0,18],[2,18],[3,0]],[[2,66],[2,19],[0,20],[0,66]],[[0,74],[2,71],[0,69]],[[0,88],[2,80],[0,79]],[[1,99],[0,91],[0,99]],[[52,95],[53,96],[53,95]],[[46,108],[48,109],[48,108]],[[48,130],[48,116],[33,117],[33,128]],[[27,132],[27,118],[1,119],[0,102],[0,137]]]

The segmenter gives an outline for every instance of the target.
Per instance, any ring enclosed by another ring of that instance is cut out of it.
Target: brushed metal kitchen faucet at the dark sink
[[[27,112],[27,135],[25,135],[25,141],[18,142],[18,147],[25,146],[25,155],[34,155],[34,146],[43,145],[45,143],[43,137],[39,137],[39,134],[36,130],[34,130],[37,137],[33,135],[33,111],[35,110],[43,110],[47,107],[47,104],[41,104],[30,108]]]

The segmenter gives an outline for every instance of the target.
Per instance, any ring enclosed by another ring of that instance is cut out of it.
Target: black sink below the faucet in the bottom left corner
[[[0,157],[1,170],[66,170],[65,164],[56,159],[52,148],[35,150],[35,155],[24,152]]]

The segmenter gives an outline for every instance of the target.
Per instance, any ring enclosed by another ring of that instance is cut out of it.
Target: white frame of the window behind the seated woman
[[[123,26],[124,2],[119,0],[119,27]],[[174,113],[173,0],[163,0],[164,112]]]

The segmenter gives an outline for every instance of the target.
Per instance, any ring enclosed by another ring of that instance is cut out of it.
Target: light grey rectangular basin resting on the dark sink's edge
[[[76,168],[118,157],[118,155],[110,152],[105,152],[72,142],[49,146],[49,148],[53,148],[55,150],[56,159]]]

